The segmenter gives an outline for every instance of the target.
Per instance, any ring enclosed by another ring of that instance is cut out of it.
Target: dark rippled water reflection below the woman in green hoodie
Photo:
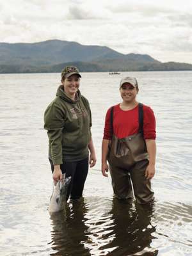
[[[57,212],[52,220],[52,249],[57,251],[50,255],[91,255],[84,247],[87,241],[87,208],[84,200],[74,202],[66,207],[66,212]]]

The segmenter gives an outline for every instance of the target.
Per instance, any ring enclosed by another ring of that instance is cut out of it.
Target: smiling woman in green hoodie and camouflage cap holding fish
[[[81,198],[88,164],[93,167],[96,163],[90,131],[92,114],[88,100],[79,91],[80,77],[76,67],[62,70],[56,98],[44,114],[52,178],[56,183],[63,173],[65,177],[72,177],[67,192],[67,199],[70,196],[72,200]]]

